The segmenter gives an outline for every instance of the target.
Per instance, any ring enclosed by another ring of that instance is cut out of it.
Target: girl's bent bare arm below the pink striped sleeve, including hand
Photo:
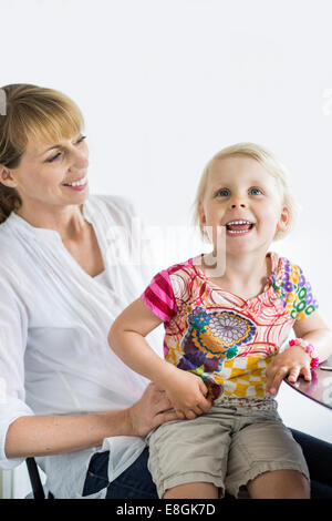
[[[210,408],[210,401],[205,398],[207,388],[201,378],[178,369],[149,347],[144,337],[160,324],[143,299],[137,298],[114,321],[108,344],[134,371],[166,391],[179,418],[196,418]]]

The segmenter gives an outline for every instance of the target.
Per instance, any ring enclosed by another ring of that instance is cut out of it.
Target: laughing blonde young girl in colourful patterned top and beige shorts
[[[158,273],[110,331],[112,349],[178,416],[146,438],[160,498],[238,497],[243,487],[251,498],[310,498],[302,451],[273,399],[284,377],[310,380],[332,345],[302,269],[269,252],[294,208],[272,154],[251,143],[222,150],[196,197],[214,251]],[[162,321],[165,359],[144,338]]]

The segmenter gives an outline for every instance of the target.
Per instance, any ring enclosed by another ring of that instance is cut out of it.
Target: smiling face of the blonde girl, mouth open
[[[211,227],[215,251],[217,226],[225,226],[226,251],[239,255],[266,254],[277,229],[287,228],[290,213],[276,178],[258,161],[232,156],[211,165],[199,216],[200,226]]]

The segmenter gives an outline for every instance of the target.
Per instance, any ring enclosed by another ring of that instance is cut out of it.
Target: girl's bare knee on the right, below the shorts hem
[[[251,499],[310,499],[309,481],[298,470],[263,472],[247,489]]]

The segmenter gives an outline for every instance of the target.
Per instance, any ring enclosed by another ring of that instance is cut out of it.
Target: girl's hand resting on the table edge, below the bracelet
[[[291,346],[279,353],[267,368],[266,395],[277,395],[283,378],[289,375],[288,380],[294,384],[302,375],[305,380],[311,380],[310,355],[300,346]]]

